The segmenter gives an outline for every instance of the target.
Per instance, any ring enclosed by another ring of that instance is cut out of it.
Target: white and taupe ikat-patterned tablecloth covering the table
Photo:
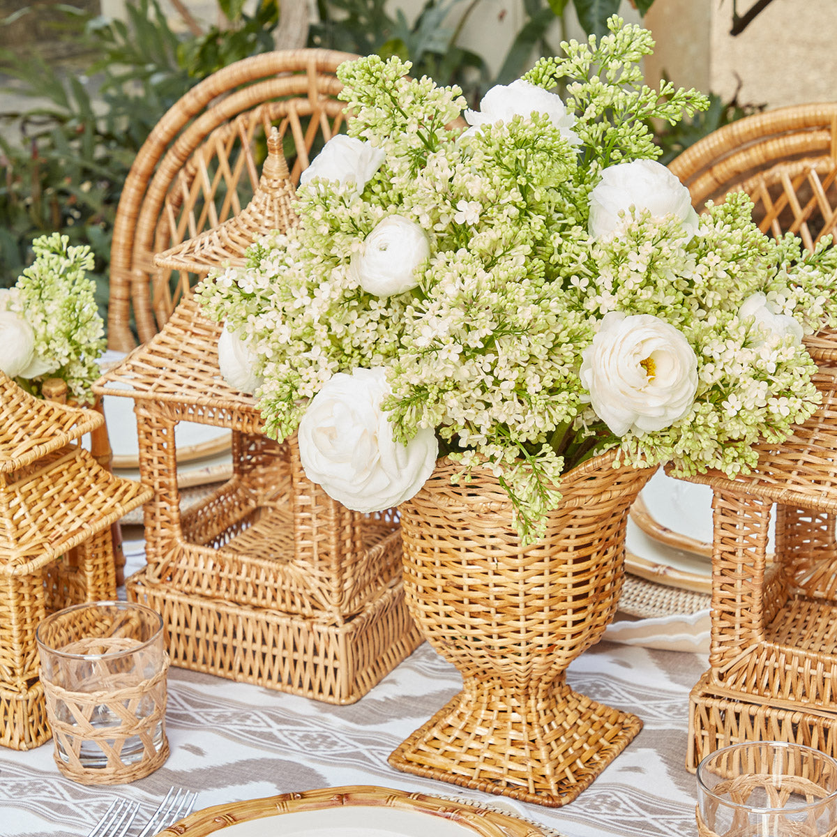
[[[144,562],[141,527],[126,526],[126,574]],[[124,588],[120,595],[124,597]],[[707,667],[708,611],[638,619],[618,613],[574,660],[567,681],[633,712],[641,732],[573,802],[558,808],[402,773],[388,756],[459,691],[461,677],[427,642],[366,695],[331,705],[173,667],[166,728],[171,755],[146,778],[82,785],[59,773],[53,744],[0,748],[0,837],[85,837],[118,798],[150,816],[169,788],[195,809],[317,788],[362,786],[455,799],[562,837],[696,834],[696,781],[686,769],[689,692]]]

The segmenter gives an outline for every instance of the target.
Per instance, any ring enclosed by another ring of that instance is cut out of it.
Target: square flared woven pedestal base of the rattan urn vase
[[[490,747],[474,736],[474,727],[491,731]],[[587,788],[641,729],[637,716],[566,684],[526,696],[510,693],[499,680],[470,680],[389,763],[405,773],[557,808]],[[494,763],[496,753],[503,754],[501,763]]]

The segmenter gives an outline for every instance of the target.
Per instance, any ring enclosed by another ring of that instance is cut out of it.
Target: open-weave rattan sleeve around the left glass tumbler
[[[167,670],[165,660],[160,671],[141,683],[119,686],[102,680],[97,691],[68,691],[44,680],[53,736],[66,759],[56,748],[59,771],[74,782],[99,785],[135,782],[160,768],[169,755]],[[119,718],[119,723],[100,726],[97,718],[103,713]],[[138,746],[142,752],[136,757]],[[88,766],[93,753],[105,761],[103,766]]]

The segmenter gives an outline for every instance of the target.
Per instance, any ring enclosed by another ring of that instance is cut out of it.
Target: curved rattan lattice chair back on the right
[[[837,102],[747,116],[697,141],[669,168],[697,210],[743,191],[764,233],[798,234],[813,248],[837,229]]]

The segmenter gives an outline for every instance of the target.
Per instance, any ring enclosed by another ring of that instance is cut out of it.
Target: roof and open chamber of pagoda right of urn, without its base
[[[718,696],[787,709],[837,701],[835,384],[819,376],[823,407],[788,442],[762,446],[752,475],[695,478],[714,494],[709,664]]]

